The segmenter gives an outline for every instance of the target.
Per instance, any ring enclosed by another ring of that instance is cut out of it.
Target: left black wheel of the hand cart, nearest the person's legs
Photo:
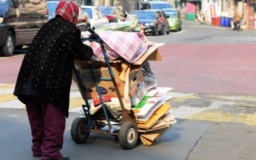
[[[87,132],[88,118],[77,117],[71,125],[71,137],[76,143],[85,143],[90,132]]]

